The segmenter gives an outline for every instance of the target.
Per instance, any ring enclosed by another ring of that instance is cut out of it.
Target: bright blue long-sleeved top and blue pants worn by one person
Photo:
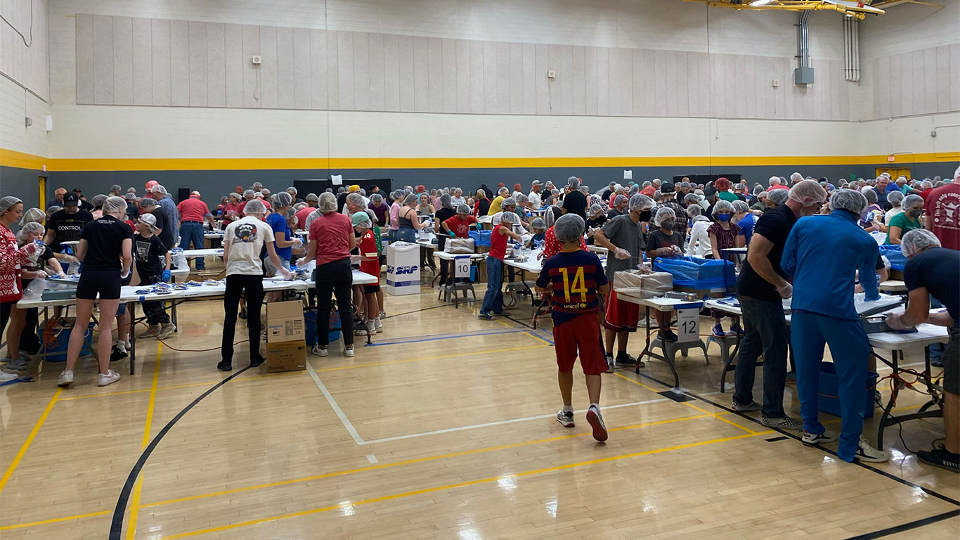
[[[820,364],[824,345],[839,380],[843,428],[837,455],[852,461],[863,430],[867,362],[870,342],[853,306],[855,272],[866,299],[876,300],[874,238],[856,224],[857,216],[833,210],[797,221],[783,249],[780,266],[793,276],[793,316],[790,344],[797,363],[797,393],[804,430],[823,433],[818,418]]]

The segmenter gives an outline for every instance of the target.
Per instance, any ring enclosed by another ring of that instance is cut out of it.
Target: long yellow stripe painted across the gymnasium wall
[[[468,169],[534,167],[740,167],[756,165],[873,165],[960,160],[960,152],[887,156],[676,156],[556,158],[144,158],[46,159],[0,149],[0,164],[51,171],[193,171],[260,169]]]

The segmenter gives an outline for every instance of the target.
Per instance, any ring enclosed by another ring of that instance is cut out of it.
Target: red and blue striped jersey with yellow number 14
[[[607,276],[600,258],[584,250],[561,252],[546,259],[537,278],[537,286],[553,288],[551,305],[554,325],[598,311],[597,287],[605,284]]]

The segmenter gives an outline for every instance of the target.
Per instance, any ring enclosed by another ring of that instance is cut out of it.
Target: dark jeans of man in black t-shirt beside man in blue
[[[789,337],[780,302],[740,298],[743,310],[743,331],[740,352],[736,357],[733,401],[750,405],[754,401],[756,358],[763,355],[763,407],[766,418],[782,418],[783,386],[786,384],[786,351]]]

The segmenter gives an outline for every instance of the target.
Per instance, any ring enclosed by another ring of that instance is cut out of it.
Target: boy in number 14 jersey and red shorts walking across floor
[[[590,406],[587,422],[593,438],[607,440],[607,427],[600,415],[600,376],[607,371],[607,360],[600,345],[597,312],[599,296],[606,296],[609,285],[603,266],[596,255],[580,249],[584,237],[584,220],[576,214],[564,214],[553,227],[563,250],[543,262],[537,291],[550,293],[553,317],[554,350],[560,372],[560,394],[564,408],[557,421],[564,428],[573,427],[573,362],[580,353],[580,367],[587,376]]]

